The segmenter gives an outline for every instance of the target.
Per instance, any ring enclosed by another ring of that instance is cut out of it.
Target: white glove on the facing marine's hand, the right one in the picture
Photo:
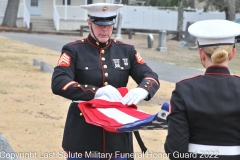
[[[121,100],[123,105],[125,104],[137,104],[139,101],[145,99],[148,96],[148,91],[143,88],[131,89]]]

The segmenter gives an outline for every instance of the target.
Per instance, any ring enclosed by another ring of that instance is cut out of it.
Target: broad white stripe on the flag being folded
[[[131,115],[128,115],[116,108],[98,108],[105,116],[113,118],[115,121],[121,124],[126,124],[130,122],[135,122],[139,120]]]

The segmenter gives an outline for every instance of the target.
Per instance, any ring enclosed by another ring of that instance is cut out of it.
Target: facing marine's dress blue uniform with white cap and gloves
[[[88,10],[89,23],[104,27],[115,24],[117,9],[122,5],[99,3],[81,7]],[[91,152],[121,158],[120,154],[133,153],[132,133],[111,133],[86,123],[77,102],[103,94],[119,98],[116,88],[126,87],[131,76],[137,88],[131,89],[122,103],[137,104],[143,99],[150,100],[160,84],[157,74],[133,45],[110,37],[100,42],[92,26],[89,27],[91,34],[87,38],[63,46],[52,75],[53,93],[73,101],[67,114],[62,147],[67,153],[80,153],[82,158]]]

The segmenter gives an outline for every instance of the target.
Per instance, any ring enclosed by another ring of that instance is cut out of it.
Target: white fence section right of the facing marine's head
[[[170,10],[143,10],[122,8],[122,28],[145,30],[176,31],[178,12]],[[226,19],[225,12],[186,12],[183,14],[183,31],[187,22],[196,22],[208,19]]]

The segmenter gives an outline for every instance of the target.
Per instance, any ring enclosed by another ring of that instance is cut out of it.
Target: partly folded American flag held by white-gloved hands
[[[128,91],[127,88],[118,90],[122,96]],[[169,114],[167,102],[156,114],[139,110],[134,104],[123,105],[120,101],[110,100],[107,96],[80,102],[78,107],[87,123],[102,127],[109,132],[167,129],[166,117]]]

